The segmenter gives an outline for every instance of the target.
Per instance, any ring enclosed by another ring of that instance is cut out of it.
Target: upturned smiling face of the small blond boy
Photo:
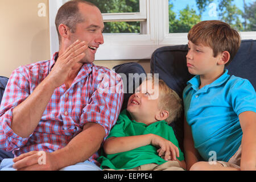
[[[160,111],[158,107],[159,94],[157,94],[158,97],[155,97],[156,92],[159,92],[158,84],[154,85],[152,80],[148,80],[143,81],[135,93],[131,95],[127,104],[127,111],[136,122],[150,125],[158,121],[156,115]]]

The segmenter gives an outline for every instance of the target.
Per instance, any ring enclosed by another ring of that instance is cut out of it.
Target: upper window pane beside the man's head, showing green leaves
[[[137,13],[139,0],[86,0],[96,5],[101,13]]]

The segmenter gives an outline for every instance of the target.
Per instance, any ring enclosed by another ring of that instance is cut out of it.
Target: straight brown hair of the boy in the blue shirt
[[[228,23],[220,20],[206,20],[197,23],[188,32],[188,40],[193,44],[209,46],[213,49],[213,57],[219,53],[228,51],[232,61],[241,44],[241,37]]]

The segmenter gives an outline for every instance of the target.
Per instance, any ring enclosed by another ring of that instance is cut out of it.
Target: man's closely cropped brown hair
[[[60,24],[65,24],[70,28],[71,32],[76,32],[76,24],[84,22],[81,13],[79,12],[79,3],[85,3],[86,5],[95,6],[93,3],[87,1],[73,0],[64,3],[57,12],[55,18],[55,26],[59,36],[59,43],[61,42],[61,36],[59,32]]]

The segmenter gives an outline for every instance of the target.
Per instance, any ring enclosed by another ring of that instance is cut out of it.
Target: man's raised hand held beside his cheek
[[[68,77],[68,73],[72,71],[73,65],[79,63],[85,56],[84,52],[87,48],[88,46],[86,46],[85,42],[76,40],[76,42],[71,44],[62,55],[59,55],[55,65],[47,76],[55,88],[64,84]]]

